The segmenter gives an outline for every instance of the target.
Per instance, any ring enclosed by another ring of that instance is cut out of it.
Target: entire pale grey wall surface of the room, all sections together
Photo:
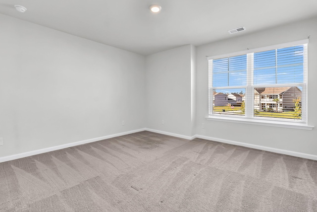
[[[0,23],[0,138],[4,143],[0,157],[145,127],[317,155],[316,128],[294,130],[205,118],[206,55],[311,35],[308,120],[317,126],[317,18],[147,57],[1,14]]]

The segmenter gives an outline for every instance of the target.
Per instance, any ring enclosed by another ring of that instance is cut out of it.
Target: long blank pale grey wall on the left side
[[[145,128],[144,56],[0,23],[0,157]]]

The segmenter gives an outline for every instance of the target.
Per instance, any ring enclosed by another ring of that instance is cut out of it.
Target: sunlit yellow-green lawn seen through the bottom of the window
[[[243,115],[244,112],[241,111],[241,107],[237,106],[234,108],[231,108],[230,106],[214,106],[213,112],[214,113],[224,113],[223,110],[225,110],[225,113],[227,114],[234,114],[234,115]],[[259,111],[259,113],[254,114],[256,117],[275,117],[275,118],[284,118],[284,119],[294,119],[294,111],[283,111],[283,112],[269,112],[269,111]],[[300,117],[299,117],[300,119]]]

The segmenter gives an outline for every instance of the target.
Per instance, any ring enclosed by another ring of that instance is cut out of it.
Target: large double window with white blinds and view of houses
[[[209,115],[306,122],[307,43],[209,57]]]

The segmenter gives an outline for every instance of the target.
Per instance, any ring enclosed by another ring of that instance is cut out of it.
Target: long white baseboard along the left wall
[[[58,149],[68,148],[68,147],[72,147],[72,146],[78,146],[78,145],[85,144],[85,143],[91,143],[91,142],[95,142],[95,141],[102,141],[105,139],[111,139],[114,137],[124,136],[124,135],[128,135],[131,133],[138,133],[138,132],[142,132],[145,130],[146,130],[145,128],[138,129],[138,130],[132,130],[132,131],[128,131],[128,132],[117,133],[117,134],[98,137],[98,138],[94,138],[94,139],[88,139],[88,140],[84,140],[84,141],[76,141],[76,142],[72,142],[72,143],[66,143],[66,144],[52,146],[52,147],[43,148],[43,149],[38,149],[38,150],[34,150],[34,151],[28,151],[28,152],[23,152],[23,153],[19,153],[19,154],[4,156],[4,157],[0,157],[0,163],[5,162],[5,161],[9,161],[9,160],[19,159],[22,157],[28,157],[28,156],[32,156],[32,155],[36,155],[36,154],[42,154],[42,153],[49,152],[49,151],[55,151]]]

